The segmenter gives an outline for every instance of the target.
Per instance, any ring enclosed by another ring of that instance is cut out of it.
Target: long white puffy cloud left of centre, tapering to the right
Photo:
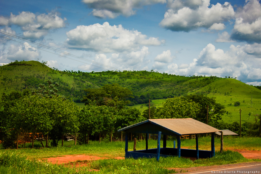
[[[141,45],[161,45],[155,37],[147,39],[137,30],[127,30],[119,26],[110,26],[108,22],[89,26],[77,26],[66,33],[66,43],[72,49],[93,50],[95,52],[131,52],[140,49]]]

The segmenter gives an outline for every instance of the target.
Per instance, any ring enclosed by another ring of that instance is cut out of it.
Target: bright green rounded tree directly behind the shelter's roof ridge
[[[162,107],[156,109],[155,118],[196,118],[199,104],[180,97],[168,98]]]

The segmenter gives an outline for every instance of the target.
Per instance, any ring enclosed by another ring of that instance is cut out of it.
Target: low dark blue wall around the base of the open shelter
[[[161,157],[170,157],[177,156],[177,148],[160,148],[160,156]],[[181,157],[197,157],[197,151],[194,149],[180,149]],[[156,158],[157,157],[157,148],[152,148],[148,150],[139,150],[139,151],[128,151],[125,154],[126,158]],[[211,151],[203,151],[199,150],[199,158],[210,158]]]

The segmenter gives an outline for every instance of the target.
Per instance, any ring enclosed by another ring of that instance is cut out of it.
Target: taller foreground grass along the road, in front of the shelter
[[[66,167],[65,165],[50,164],[36,158],[28,160],[23,153],[4,151],[0,152],[0,173],[4,174],[82,174],[82,173],[115,173],[115,174],[167,174],[177,173],[174,169],[168,168],[185,168],[193,166],[209,166],[219,164],[230,164],[235,162],[246,162],[240,153],[233,151],[224,151],[224,153],[216,152],[216,156],[208,159],[200,159],[191,161],[188,158],[178,157],[161,157],[159,161],[155,158],[139,158],[139,159],[104,159],[90,162],[87,167]],[[92,171],[97,169],[99,171]]]

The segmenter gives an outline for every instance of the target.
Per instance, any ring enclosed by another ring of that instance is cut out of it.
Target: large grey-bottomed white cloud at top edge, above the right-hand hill
[[[160,25],[172,31],[189,32],[200,27],[224,29],[223,22],[233,19],[235,15],[233,7],[228,2],[223,5],[220,3],[210,5],[210,0],[173,1],[169,3],[169,7]]]

